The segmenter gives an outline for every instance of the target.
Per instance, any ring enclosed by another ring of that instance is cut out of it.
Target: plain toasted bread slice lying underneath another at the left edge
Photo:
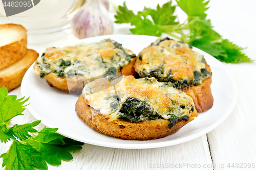
[[[38,53],[27,50],[25,56],[18,62],[0,70],[0,87],[5,86],[8,91],[20,86],[25,72],[36,61]]]

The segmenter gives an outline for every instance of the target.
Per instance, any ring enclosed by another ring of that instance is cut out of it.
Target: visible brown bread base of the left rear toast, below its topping
[[[125,65],[122,68],[121,72],[124,76],[134,74],[134,69],[133,69],[134,62],[135,62],[135,59],[133,59],[129,64]],[[39,66],[36,63],[34,65],[34,69],[35,69],[35,74],[40,75],[41,69],[39,68]],[[120,70],[118,70],[118,72],[120,72]],[[76,89],[74,88],[74,89],[72,89],[72,91],[69,91],[69,87],[68,87],[68,84],[67,84],[66,77],[58,77],[53,72],[50,72],[44,78],[46,79],[46,82],[51,87],[57,88],[57,89],[62,90],[62,91],[67,91],[67,92],[80,94],[79,92],[83,89],[83,86],[78,85]],[[69,83],[76,85],[77,81],[72,81],[71,80],[71,81],[69,81]]]

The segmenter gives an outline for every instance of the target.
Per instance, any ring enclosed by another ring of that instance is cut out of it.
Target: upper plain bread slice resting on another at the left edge
[[[27,52],[27,30],[20,25],[0,25],[0,70],[22,59]]]

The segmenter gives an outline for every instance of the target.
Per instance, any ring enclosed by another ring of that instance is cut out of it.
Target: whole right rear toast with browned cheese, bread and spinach
[[[211,70],[203,55],[182,41],[158,38],[136,57],[135,77],[156,78],[188,94],[198,112],[213,105]]]

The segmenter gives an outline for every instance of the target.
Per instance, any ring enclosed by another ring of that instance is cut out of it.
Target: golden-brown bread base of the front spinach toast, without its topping
[[[122,119],[110,121],[103,117],[98,110],[86,104],[81,95],[76,102],[76,113],[78,117],[90,126],[93,130],[102,134],[132,140],[152,140],[159,139],[178,132],[184,125],[191,122],[196,116],[195,111],[188,119],[179,121],[172,129],[168,128],[169,120],[147,120],[145,122],[127,122]]]

